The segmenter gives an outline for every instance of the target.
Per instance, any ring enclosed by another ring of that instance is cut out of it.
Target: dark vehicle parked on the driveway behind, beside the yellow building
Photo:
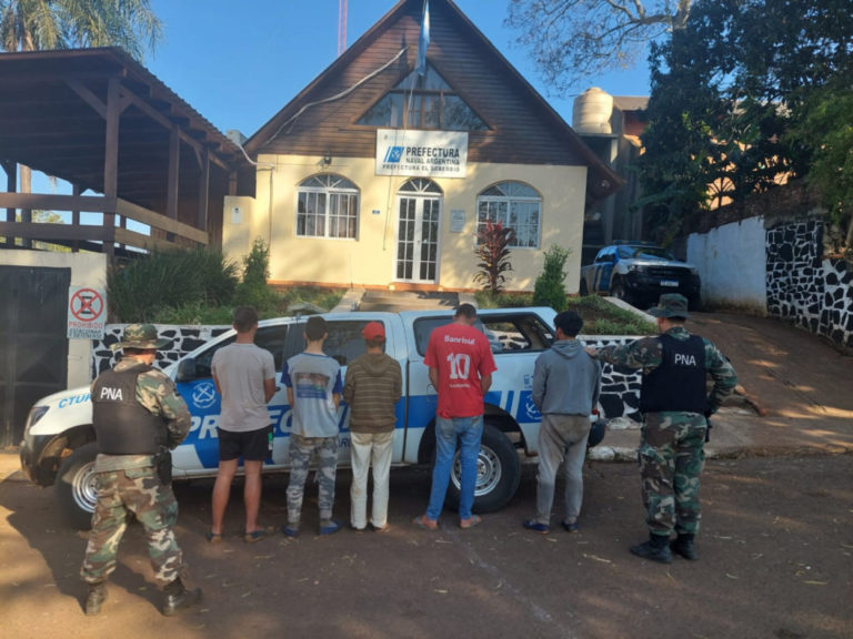
[[[592,264],[581,266],[581,295],[612,295],[645,307],[654,304],[662,293],[681,293],[695,308],[700,304],[700,291],[695,266],[645,242],[604,246]]]

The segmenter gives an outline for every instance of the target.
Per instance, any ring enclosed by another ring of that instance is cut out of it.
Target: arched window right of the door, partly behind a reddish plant
[[[485,230],[486,222],[500,222],[515,231],[512,246],[538,248],[541,217],[542,197],[522,182],[499,182],[476,197],[478,232]]]

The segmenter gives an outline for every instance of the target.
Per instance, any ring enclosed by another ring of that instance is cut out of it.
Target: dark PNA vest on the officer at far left
[[[92,388],[92,422],[107,455],[153,455],[165,445],[165,422],[137,402],[137,377],[152,366],[104,371]]]

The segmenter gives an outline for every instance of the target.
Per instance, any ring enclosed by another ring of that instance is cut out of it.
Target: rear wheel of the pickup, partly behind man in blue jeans
[[[454,509],[459,508],[461,470],[459,450],[456,450],[446,496],[448,506]],[[519,452],[501,430],[488,423],[484,424],[480,456],[476,460],[473,509],[476,513],[500,510],[515,495],[519,481],[521,481]]]

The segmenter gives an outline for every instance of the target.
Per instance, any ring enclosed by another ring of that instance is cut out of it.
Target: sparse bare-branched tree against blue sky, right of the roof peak
[[[520,32],[556,92],[604,71],[631,68],[646,45],[682,29],[692,0],[510,0],[506,24]]]

